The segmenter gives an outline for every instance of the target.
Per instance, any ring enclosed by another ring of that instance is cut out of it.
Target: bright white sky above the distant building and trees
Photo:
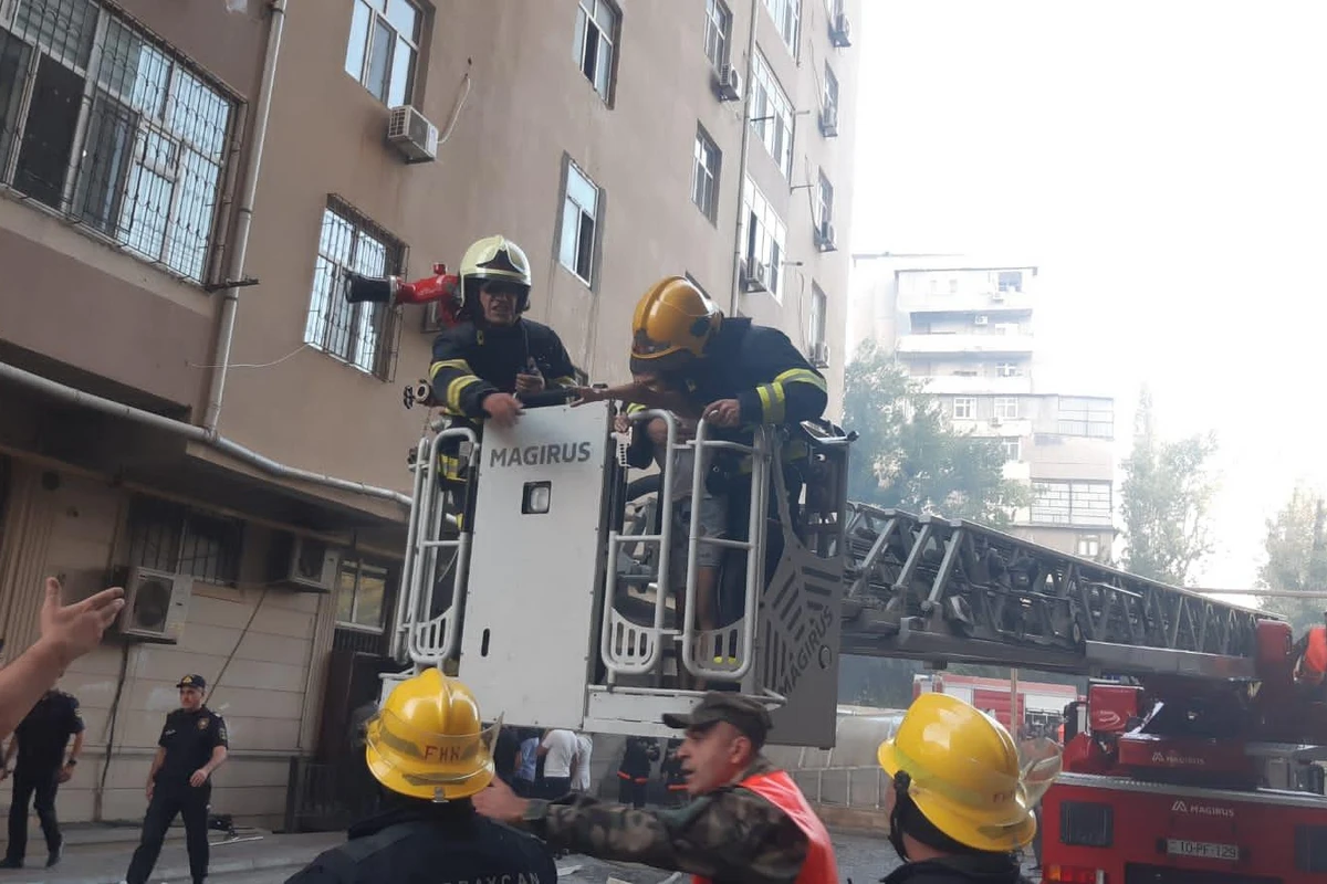
[[[1113,395],[1121,455],[1141,380],[1214,429],[1202,584],[1251,584],[1327,486],[1327,3],[863,7],[852,249],[1039,262],[1038,384]]]

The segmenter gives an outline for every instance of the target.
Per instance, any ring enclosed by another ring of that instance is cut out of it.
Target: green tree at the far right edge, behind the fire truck
[[[1303,592],[1327,587],[1327,501],[1304,488],[1295,488],[1290,500],[1267,520],[1263,541],[1267,561],[1258,571],[1258,586],[1266,590]],[[1327,598],[1266,598],[1263,607],[1281,614],[1298,636],[1323,622]]]

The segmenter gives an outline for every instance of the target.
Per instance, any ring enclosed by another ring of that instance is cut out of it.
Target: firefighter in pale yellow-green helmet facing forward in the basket
[[[460,260],[460,323],[433,342],[433,398],[453,415],[508,427],[520,395],[575,387],[576,368],[552,329],[524,318],[529,261],[506,236],[486,236]]]

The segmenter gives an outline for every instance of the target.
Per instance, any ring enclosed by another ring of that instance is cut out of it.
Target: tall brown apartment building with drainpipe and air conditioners
[[[184,672],[230,724],[215,810],[268,824],[376,693],[435,319],[348,306],[346,270],[500,231],[605,382],[638,294],[687,273],[839,410],[856,11],[0,0],[4,659],[44,575],[133,591],[61,683],[89,745],[62,818],[141,816]]]

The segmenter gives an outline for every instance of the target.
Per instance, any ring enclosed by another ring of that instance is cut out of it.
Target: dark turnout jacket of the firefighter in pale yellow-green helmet
[[[429,383],[451,415],[479,420],[488,394],[515,392],[516,375],[544,376],[548,387],[576,386],[576,370],[557,333],[531,319],[511,326],[462,322],[433,342]]]

